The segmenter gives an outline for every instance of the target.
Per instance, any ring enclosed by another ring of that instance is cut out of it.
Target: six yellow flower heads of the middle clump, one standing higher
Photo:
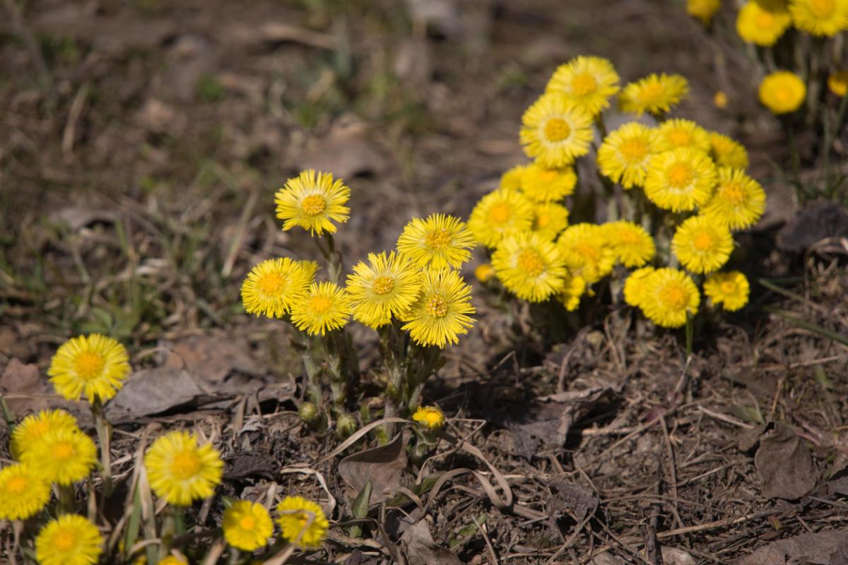
[[[304,171],[277,192],[277,217],[284,230],[299,225],[313,235],[332,234],[333,222],[348,218],[349,194],[332,174]],[[367,262],[354,265],[346,285],[315,280],[313,262],[259,263],[242,285],[244,309],[290,319],[310,335],[339,330],[351,317],[374,329],[396,319],[417,343],[444,348],[474,322],[471,287],[456,269],[471,258],[475,245],[458,218],[444,213],[415,218],[404,227],[396,250],[370,253]]]

